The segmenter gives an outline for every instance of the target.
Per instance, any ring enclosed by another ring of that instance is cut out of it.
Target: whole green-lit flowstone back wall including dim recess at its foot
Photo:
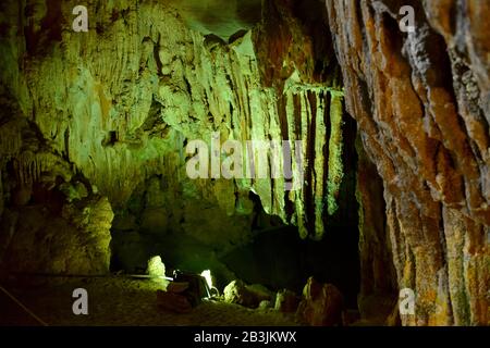
[[[346,159],[340,71],[317,35],[328,36],[321,4],[310,26],[307,9],[293,2],[235,1],[223,10],[230,17],[210,18],[211,8],[196,14],[196,1],[88,1],[87,33],[72,29],[74,5],[1,5],[2,95],[19,109],[1,122],[4,215],[19,212],[14,190],[25,196],[21,206],[30,204],[24,175],[37,185],[50,173],[46,186],[60,204],[75,204],[85,191],[107,197],[115,257],[134,271],[161,252],[151,236],[173,250],[196,246],[211,263],[213,251],[248,243],[256,198],[303,238],[322,237],[340,209]],[[20,123],[42,147],[27,146]],[[191,179],[186,145],[210,146],[212,134],[291,140],[304,181],[284,189],[283,178],[270,178],[270,163],[266,178]],[[16,221],[5,221],[3,231],[16,233]],[[143,247],[135,251],[135,244]]]

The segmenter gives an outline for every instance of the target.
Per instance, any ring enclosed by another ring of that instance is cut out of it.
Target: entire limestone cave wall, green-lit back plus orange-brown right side
[[[358,236],[362,316],[394,323],[411,288],[404,325],[489,324],[490,3],[88,0],[87,33],[77,4],[0,3],[2,272],[185,246],[228,279],[257,226],[336,228]],[[302,140],[297,189],[191,179],[186,145],[212,135]]]

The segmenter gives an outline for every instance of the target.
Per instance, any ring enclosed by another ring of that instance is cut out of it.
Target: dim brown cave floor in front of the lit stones
[[[292,326],[293,315],[273,310],[252,310],[236,304],[207,301],[188,314],[158,308],[156,290],[163,285],[125,277],[48,278],[35,277],[0,283],[11,295],[50,326]],[[73,290],[88,293],[88,315],[72,311]],[[0,325],[40,325],[19,304],[0,291]]]

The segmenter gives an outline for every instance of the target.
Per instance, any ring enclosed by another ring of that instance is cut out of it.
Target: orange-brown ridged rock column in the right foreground
[[[487,325],[490,4],[327,0],[348,112],[383,179],[399,288],[416,325]],[[478,13],[478,14],[477,14]]]

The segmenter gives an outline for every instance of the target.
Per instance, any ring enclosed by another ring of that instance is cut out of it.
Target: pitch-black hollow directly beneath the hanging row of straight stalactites
[[[249,246],[226,254],[223,262],[248,284],[301,294],[309,276],[334,284],[348,308],[357,308],[359,258],[352,226],[330,228],[322,240],[303,240],[291,226],[265,231]],[[350,234],[351,233],[351,234]]]

